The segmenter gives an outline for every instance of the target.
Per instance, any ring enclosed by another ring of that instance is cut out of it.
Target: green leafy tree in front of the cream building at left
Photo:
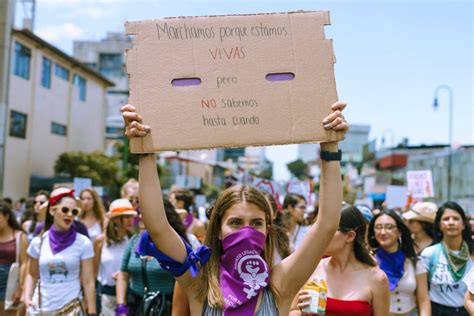
[[[108,157],[100,151],[85,153],[70,151],[61,154],[54,164],[56,175],[69,178],[92,179],[94,185],[117,185],[118,166],[116,157]]]

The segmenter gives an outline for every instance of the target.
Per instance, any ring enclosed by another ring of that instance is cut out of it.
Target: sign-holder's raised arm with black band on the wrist
[[[324,127],[342,133],[348,129],[342,116],[345,103],[332,105],[333,113],[323,120]],[[321,150],[337,152],[337,142],[322,143]],[[273,270],[274,282],[282,297],[293,298],[316,269],[339,225],[342,207],[342,183],[339,161],[321,160],[320,202],[316,223],[301,246]]]

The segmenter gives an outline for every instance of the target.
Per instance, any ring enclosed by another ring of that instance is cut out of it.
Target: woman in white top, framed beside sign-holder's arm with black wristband
[[[283,200],[283,208],[289,214],[290,242],[291,247],[296,250],[311,228],[311,226],[305,225],[304,222],[304,214],[307,208],[306,200],[300,194],[288,193]]]

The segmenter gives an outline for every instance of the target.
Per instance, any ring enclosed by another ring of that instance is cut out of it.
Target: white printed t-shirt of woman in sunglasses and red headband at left
[[[53,255],[49,245],[49,231],[41,237],[35,237],[28,247],[28,254],[39,258],[41,283],[41,309],[44,312],[63,307],[81,293],[81,261],[94,257],[92,243],[84,235],[77,233],[74,243]],[[33,302],[38,304],[38,293],[35,288]],[[39,305],[38,305],[39,306]]]

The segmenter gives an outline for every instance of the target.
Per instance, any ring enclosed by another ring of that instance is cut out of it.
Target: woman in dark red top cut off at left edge
[[[0,201],[0,315],[15,315],[15,310],[5,310],[5,294],[10,267],[17,260],[20,265],[19,283],[13,293],[12,301],[19,306],[26,273],[26,248],[28,239],[15,214],[7,203]]]

